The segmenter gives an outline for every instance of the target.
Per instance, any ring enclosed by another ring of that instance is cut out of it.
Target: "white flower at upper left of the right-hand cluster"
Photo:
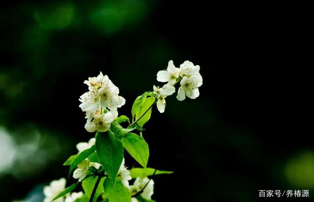
[[[177,78],[179,78],[179,68],[176,68],[173,61],[168,62],[167,70],[161,70],[157,73],[157,81],[168,82],[169,85],[173,85]]]

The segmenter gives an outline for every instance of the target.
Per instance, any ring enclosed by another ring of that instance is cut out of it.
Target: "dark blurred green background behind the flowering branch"
[[[310,189],[311,196],[314,144],[302,114],[309,80],[298,74],[302,25],[295,8],[286,6],[169,0],[2,5],[0,133],[18,151],[11,166],[0,169],[0,201],[30,199],[67,176],[62,163],[92,137],[78,107],[87,90],[83,80],[108,75],[127,101],[119,113],[130,116],[134,99],[158,84],[156,74],[170,59],[177,67],[184,60],[200,65],[204,84],[196,100],[167,98],[165,113],[154,108],[146,125],[149,166],[174,171],[154,178],[154,200],[254,202],[259,189]],[[12,151],[5,152],[4,158]],[[126,163],[134,162],[127,156]]]

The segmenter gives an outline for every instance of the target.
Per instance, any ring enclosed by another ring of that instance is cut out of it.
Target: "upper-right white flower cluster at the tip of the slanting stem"
[[[163,113],[166,106],[165,98],[176,92],[175,85],[180,82],[177,99],[185,100],[185,97],[196,99],[200,92],[198,87],[203,84],[203,78],[200,74],[200,66],[190,61],[185,61],[180,68],[175,67],[173,61],[168,62],[167,70],[161,70],[157,73],[157,81],[167,82],[162,88],[154,85],[154,94],[157,97],[157,109]]]

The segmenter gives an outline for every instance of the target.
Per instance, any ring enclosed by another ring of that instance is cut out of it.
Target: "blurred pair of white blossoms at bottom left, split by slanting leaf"
[[[56,197],[65,188],[66,179],[61,178],[59,180],[53,180],[49,186],[44,187],[45,199],[44,202],[51,202],[54,197]],[[73,192],[69,193],[54,202],[75,202],[77,199],[83,196],[83,192]]]

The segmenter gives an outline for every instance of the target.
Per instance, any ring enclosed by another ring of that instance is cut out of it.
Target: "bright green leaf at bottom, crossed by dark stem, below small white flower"
[[[95,193],[95,196],[94,196],[94,199],[93,201],[96,202],[96,200],[98,199],[98,197],[104,193],[104,186],[102,186],[102,184],[104,184],[104,180],[105,180],[106,177],[103,177],[101,180],[100,180],[100,183],[96,189],[96,193]],[[98,179],[98,176],[96,177],[87,177],[85,178],[83,181],[82,181],[82,187],[83,187],[83,190],[86,194],[86,196],[88,198],[91,197],[92,195],[92,192],[93,192],[93,189],[94,189],[94,186],[96,184],[96,181]]]

